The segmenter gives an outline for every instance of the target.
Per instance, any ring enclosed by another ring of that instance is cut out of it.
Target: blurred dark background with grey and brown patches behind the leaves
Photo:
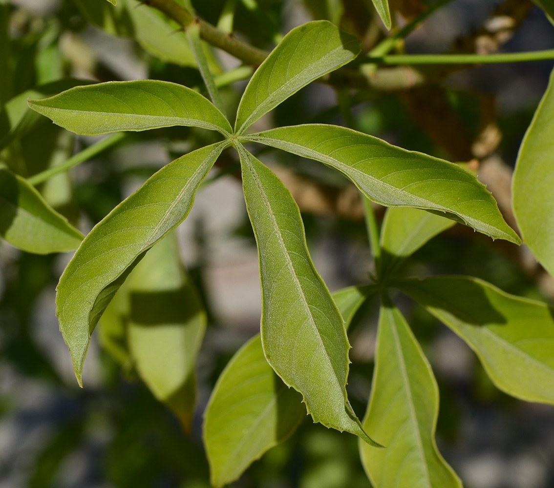
[[[358,35],[366,51],[387,35],[370,0],[178,3],[222,28],[225,4],[234,5],[234,35],[265,50],[314,18],[330,19]],[[398,26],[428,6],[423,0],[391,5]],[[396,46],[413,53],[549,48],[554,48],[554,27],[528,0],[452,0]],[[206,50],[216,74],[240,65],[223,51],[208,45]],[[427,81],[403,90],[312,84],[257,127],[346,124],[407,149],[469,162],[513,224],[511,170],[551,67],[550,61],[538,61],[425,72]],[[31,93],[50,94],[59,86],[87,82],[83,80],[142,78],[203,89],[184,34],[160,12],[135,0],[119,0],[116,8],[104,0],[2,0],[0,159],[32,176],[98,140],[74,136],[45,118],[3,140],[10,107],[23,110],[17,107],[25,107]],[[228,113],[235,113],[244,86],[245,81],[237,81],[222,89]],[[212,137],[186,127],[127,134],[39,190],[87,232],[162,165],[213,142]],[[317,163],[271,148],[258,152],[299,203],[310,251],[331,290],[366,281],[372,269],[357,191]],[[237,160],[224,153],[177,231],[182,258],[208,314],[189,436],[138,379],[134,366],[121,366],[117,354],[99,345],[98,334],[85,366],[86,387],[80,390],[54,315],[55,285],[69,257],[31,255],[0,243],[1,488],[209,486],[202,412],[227,361],[259,328],[257,253],[237,175]],[[552,279],[525,247],[492,242],[459,225],[416,252],[403,272],[469,274],[510,293],[554,299]],[[398,304],[434,367],[440,386],[439,446],[465,486],[554,486],[552,408],[498,391],[452,332],[408,299]],[[371,388],[376,305],[369,300],[349,331],[353,362],[348,394],[359,415]],[[292,438],[266,453],[233,486],[362,488],[370,482],[353,435],[306,419]]]

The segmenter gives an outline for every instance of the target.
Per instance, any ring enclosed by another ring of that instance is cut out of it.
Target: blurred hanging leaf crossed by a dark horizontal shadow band
[[[146,253],[127,282],[131,358],[154,396],[190,432],[196,400],[194,367],[206,312],[181,263],[175,233]]]

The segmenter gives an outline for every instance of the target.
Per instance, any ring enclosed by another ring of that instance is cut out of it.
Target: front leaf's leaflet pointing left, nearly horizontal
[[[231,126],[212,103],[168,81],[108,81],[77,86],[29,107],[68,131],[86,136],[157,127],[197,126],[229,136]]]

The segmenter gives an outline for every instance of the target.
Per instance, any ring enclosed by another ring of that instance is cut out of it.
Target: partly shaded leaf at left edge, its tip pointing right
[[[35,254],[71,251],[83,240],[83,235],[52,209],[33,186],[2,168],[0,236]]]

